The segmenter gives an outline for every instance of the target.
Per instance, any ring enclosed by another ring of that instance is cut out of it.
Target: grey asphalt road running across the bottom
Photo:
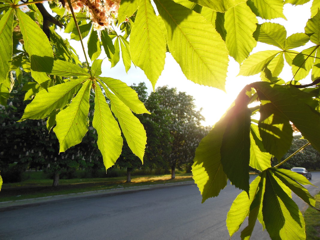
[[[312,177],[319,187],[320,172]],[[313,194],[320,190],[308,188]],[[239,193],[228,184],[201,204],[196,185],[185,185],[21,207],[0,212],[0,239],[227,240],[226,215]],[[261,230],[258,223],[251,239],[269,240]],[[232,239],[240,239],[240,232]]]

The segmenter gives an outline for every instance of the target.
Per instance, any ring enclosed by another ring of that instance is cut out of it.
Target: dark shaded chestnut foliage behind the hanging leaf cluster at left
[[[1,136],[0,168],[4,180],[12,181],[19,177],[26,168],[39,168],[45,172],[61,173],[76,167],[87,168],[103,166],[102,156],[97,148],[96,130],[89,126],[82,142],[63,153],[59,153],[59,141],[53,131],[48,133],[49,125],[44,119],[18,121],[23,115],[28,101],[23,101],[24,83],[30,81],[31,75],[24,74],[22,81],[15,79],[14,90],[10,94],[7,106],[0,108]],[[94,96],[90,96],[94,98]],[[93,118],[90,105],[89,119]],[[12,173],[12,165],[18,174]],[[63,170],[62,170],[63,169]],[[67,169],[67,170],[65,170]],[[11,173],[11,174],[10,174]]]

